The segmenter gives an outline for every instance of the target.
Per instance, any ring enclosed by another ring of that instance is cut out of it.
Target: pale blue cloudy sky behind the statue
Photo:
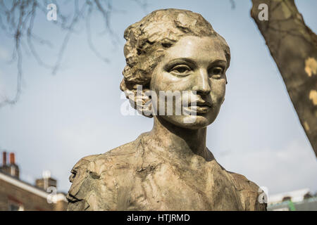
[[[113,1],[123,10],[111,25],[119,37],[113,45],[101,36],[104,21],[94,16],[93,39],[111,59],[102,62],[87,44],[85,26],[77,27],[56,75],[24,53],[23,91],[16,105],[0,108],[0,148],[16,154],[21,176],[34,183],[49,169],[60,191],[68,191],[68,176],[85,155],[104,153],[149,131],[152,119],[123,116],[119,89],[125,66],[123,32],[159,8],[182,8],[201,13],[228,42],[232,60],[223,108],[207,134],[207,146],[218,162],[244,174],[269,194],[311,188],[317,191],[317,163],[299,124],[278,69],[250,17],[250,1],[149,1],[147,11],[134,1]],[[296,1],[306,24],[317,30],[317,1]],[[68,4],[67,7],[70,7]],[[43,60],[54,63],[64,33],[39,14],[35,32],[53,42],[50,50],[37,46]],[[0,35],[0,98],[13,96],[16,67],[6,60],[13,42]]]

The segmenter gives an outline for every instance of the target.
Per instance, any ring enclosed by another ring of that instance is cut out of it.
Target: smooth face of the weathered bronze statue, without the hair
[[[182,37],[166,50],[151,77],[156,116],[189,129],[211,124],[225,98],[227,63],[216,37]]]

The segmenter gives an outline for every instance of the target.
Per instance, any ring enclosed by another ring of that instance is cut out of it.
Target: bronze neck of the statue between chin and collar
[[[185,129],[154,116],[154,126],[149,136],[176,157],[191,158],[200,155],[208,161],[213,159],[213,155],[206,148],[206,127]]]

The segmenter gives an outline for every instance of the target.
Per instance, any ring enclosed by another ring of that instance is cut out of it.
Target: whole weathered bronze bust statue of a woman
[[[259,187],[225,170],[206,148],[206,127],[225,99],[225,39],[201,15],[178,9],[150,13],[124,37],[120,89],[154,126],[77,162],[68,210],[266,210]],[[176,100],[165,103],[170,93],[181,100],[181,114]]]

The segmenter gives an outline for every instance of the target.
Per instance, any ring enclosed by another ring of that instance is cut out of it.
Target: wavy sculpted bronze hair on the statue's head
[[[174,8],[161,9],[153,11],[125,30],[124,38],[127,42],[124,46],[124,54],[127,65],[123,70],[124,78],[120,83],[120,89],[125,92],[132,107],[142,115],[153,116],[149,113],[151,98],[144,95],[144,91],[149,90],[151,74],[164,56],[162,49],[170,48],[185,36],[220,39],[229,67],[228,44],[198,13]],[[137,85],[142,85],[141,98],[137,98]]]

